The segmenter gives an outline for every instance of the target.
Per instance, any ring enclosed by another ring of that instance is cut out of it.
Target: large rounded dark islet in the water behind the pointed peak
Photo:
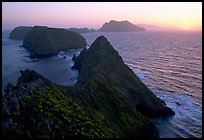
[[[86,40],[80,34],[66,29],[34,26],[22,46],[30,51],[31,57],[44,57],[63,50],[83,48]]]

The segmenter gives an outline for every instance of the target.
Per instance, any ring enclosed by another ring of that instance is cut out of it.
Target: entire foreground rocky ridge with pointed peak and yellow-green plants
[[[21,71],[2,98],[2,134],[19,138],[157,138],[149,118],[175,113],[98,37],[73,57],[73,87]]]

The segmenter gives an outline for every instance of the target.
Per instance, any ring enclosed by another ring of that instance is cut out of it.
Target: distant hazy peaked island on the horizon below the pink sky
[[[145,28],[136,26],[128,21],[114,21],[105,23],[98,31],[100,32],[138,32],[145,31]]]

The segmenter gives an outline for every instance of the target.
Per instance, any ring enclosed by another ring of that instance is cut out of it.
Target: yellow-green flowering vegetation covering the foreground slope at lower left
[[[19,127],[24,126],[20,129],[21,133],[28,131],[31,137],[111,136],[109,129],[90,119],[71,97],[65,96],[53,85],[43,91],[33,91],[33,95],[21,100],[20,111],[11,115]]]

